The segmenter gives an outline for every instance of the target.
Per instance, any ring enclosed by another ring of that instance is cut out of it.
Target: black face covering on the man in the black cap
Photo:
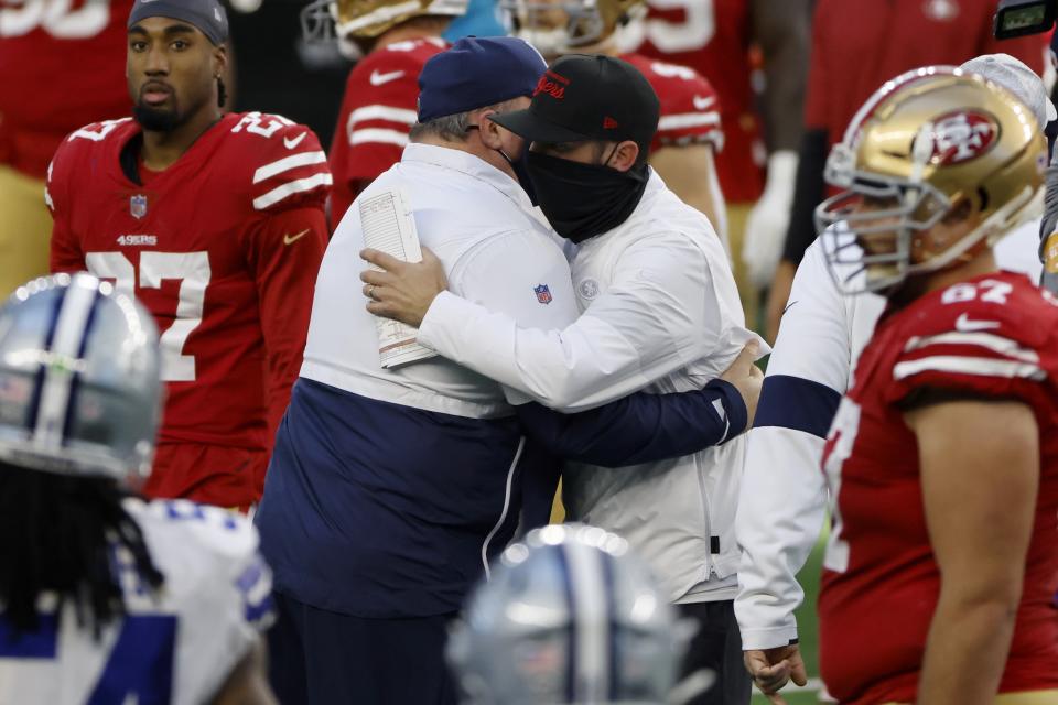
[[[602,235],[628,219],[647,187],[647,165],[619,172],[529,152],[529,177],[554,231],[573,242]]]

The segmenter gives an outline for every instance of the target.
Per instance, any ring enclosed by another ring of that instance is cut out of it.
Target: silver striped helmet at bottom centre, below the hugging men
[[[550,525],[472,593],[447,657],[468,703],[663,703],[692,631],[624,539]]]

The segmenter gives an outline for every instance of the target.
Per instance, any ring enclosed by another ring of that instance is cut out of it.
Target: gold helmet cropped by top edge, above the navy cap
[[[469,0],[315,0],[301,11],[310,42],[373,40],[413,18],[460,17]]]

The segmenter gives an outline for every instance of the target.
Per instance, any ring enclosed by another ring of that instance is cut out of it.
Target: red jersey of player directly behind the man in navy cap
[[[360,191],[400,161],[419,107],[419,72],[447,44],[435,37],[388,44],[349,72],[331,143],[331,223],[342,221]]]

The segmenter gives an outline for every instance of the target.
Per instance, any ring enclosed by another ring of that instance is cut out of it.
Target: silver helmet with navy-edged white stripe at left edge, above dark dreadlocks
[[[20,286],[0,307],[0,459],[73,476],[150,473],[161,416],[158,330],[90,274]]]

